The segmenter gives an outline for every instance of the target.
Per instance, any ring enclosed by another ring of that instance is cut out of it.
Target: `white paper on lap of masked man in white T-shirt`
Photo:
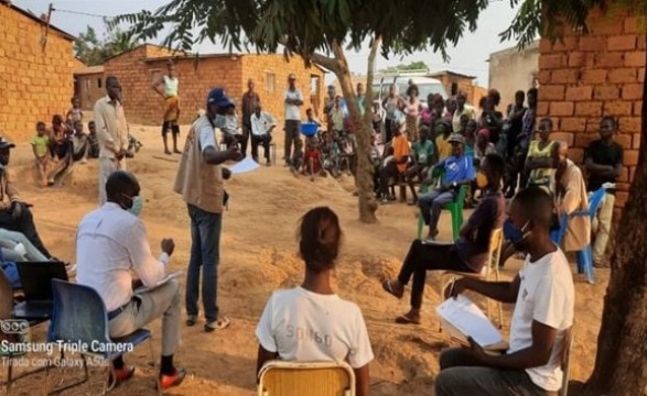
[[[496,327],[472,300],[463,295],[450,298],[435,308],[438,315],[460,330],[465,338],[472,337],[481,346],[497,344],[504,340]]]

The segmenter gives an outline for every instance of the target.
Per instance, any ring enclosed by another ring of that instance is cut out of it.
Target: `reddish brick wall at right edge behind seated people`
[[[563,43],[542,40],[539,46],[538,117],[551,117],[556,139],[571,145],[571,158],[581,164],[583,150],[599,139],[600,120],[619,120],[615,140],[625,148],[625,167],[618,180],[616,205],[624,207],[638,163],[645,35],[636,19],[615,12],[592,13],[591,32],[565,30]]]

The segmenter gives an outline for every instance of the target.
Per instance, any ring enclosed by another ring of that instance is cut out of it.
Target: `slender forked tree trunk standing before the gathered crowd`
[[[379,38],[376,40],[379,42]],[[374,43],[374,47],[376,44]],[[338,68],[333,70],[339,79],[339,86],[344,98],[346,98],[346,106],[351,112],[351,120],[353,120],[353,127],[355,128],[355,136],[357,139],[357,168],[355,170],[356,185],[358,188],[358,201],[359,201],[359,221],[365,223],[374,223],[377,221],[375,212],[377,211],[377,199],[375,198],[374,186],[373,186],[373,162],[370,161],[370,136],[371,128],[369,123],[364,122],[359,107],[357,106],[357,98],[355,97],[355,89],[353,88],[353,80],[351,79],[351,70],[348,63],[346,62],[346,55],[344,48],[336,42],[332,43],[333,53],[335,59],[338,63]],[[377,53],[377,51],[376,51]],[[371,50],[373,54],[373,50]],[[373,56],[375,59],[375,55]],[[369,62],[371,67],[373,62]],[[370,86],[366,87],[367,92],[370,91]],[[370,99],[367,96],[367,99]],[[365,109],[368,106],[367,111],[370,112],[370,105],[365,102]]]

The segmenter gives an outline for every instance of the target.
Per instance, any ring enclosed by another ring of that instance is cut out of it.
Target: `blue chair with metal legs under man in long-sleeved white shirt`
[[[65,280],[52,279],[52,289],[54,295],[54,310],[52,321],[47,333],[47,342],[62,342],[63,344],[73,344],[74,346],[84,345],[87,350],[79,352],[83,360],[85,376],[55,389],[60,393],[80,385],[88,381],[89,373],[87,367],[86,355],[105,360],[108,364],[109,374],[115,378],[115,370],[111,362],[123,352],[131,351],[145,340],[151,341],[151,332],[145,329],[139,329],[132,334],[110,339],[108,336],[108,312],[99,294],[91,287],[73,284]],[[154,362],[152,343],[150,343],[151,355]],[[104,383],[103,395],[115,386],[112,381]]]

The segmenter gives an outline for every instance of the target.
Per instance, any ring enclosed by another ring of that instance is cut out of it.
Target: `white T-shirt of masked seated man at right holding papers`
[[[557,392],[562,383],[560,367],[564,330],[573,324],[575,290],[569,262],[561,250],[547,254],[535,263],[526,258],[519,272],[521,284],[510,326],[510,349],[508,353],[529,348],[532,344],[532,321],[558,330],[556,343],[548,364],[526,369],[532,382],[549,392]]]

